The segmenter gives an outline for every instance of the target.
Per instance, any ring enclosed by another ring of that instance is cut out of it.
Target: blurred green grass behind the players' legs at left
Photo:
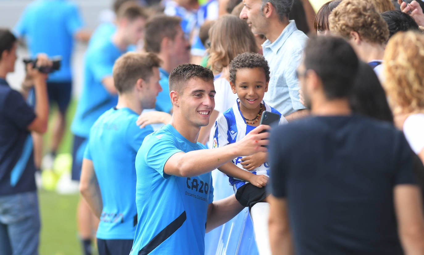
[[[70,103],[67,115],[67,129],[58,153],[71,153],[72,134],[69,126],[76,109],[76,100]],[[49,121],[49,130],[44,136],[44,151],[48,151],[52,133],[52,119],[57,109],[52,109]],[[82,252],[78,241],[76,224],[76,208],[79,194],[61,195],[56,192],[39,190],[41,213],[41,236],[39,252],[41,255],[79,255]],[[95,249],[93,249],[95,250]],[[97,250],[95,250],[94,254]]]

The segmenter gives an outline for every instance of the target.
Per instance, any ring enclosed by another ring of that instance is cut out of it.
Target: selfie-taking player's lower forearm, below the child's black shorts
[[[230,195],[227,198],[209,204],[206,233],[234,218],[243,208],[235,195]]]

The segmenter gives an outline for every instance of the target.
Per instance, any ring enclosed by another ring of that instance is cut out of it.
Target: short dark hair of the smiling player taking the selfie
[[[182,64],[174,68],[169,74],[169,91],[182,94],[184,84],[194,78],[202,79],[205,82],[214,80],[213,73],[208,68],[195,64]]]

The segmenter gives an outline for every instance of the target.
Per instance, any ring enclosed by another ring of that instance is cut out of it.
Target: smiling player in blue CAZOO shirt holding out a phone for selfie
[[[211,171],[237,155],[265,151],[268,129],[260,126],[235,144],[205,149],[197,142],[215,107],[213,74],[200,65],[184,64],[169,77],[173,116],[140,147],[136,203],[138,222],[131,255],[204,254],[205,232],[243,208],[234,195],[213,201]]]

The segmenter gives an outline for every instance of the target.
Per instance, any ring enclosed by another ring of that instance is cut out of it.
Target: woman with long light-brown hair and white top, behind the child
[[[244,20],[226,14],[216,20],[209,29],[208,66],[215,74],[215,110],[209,118],[209,125],[202,127],[198,141],[206,144],[210,130],[219,113],[231,108],[237,95],[232,93],[229,82],[229,64],[234,57],[244,52],[257,52],[254,35]]]

